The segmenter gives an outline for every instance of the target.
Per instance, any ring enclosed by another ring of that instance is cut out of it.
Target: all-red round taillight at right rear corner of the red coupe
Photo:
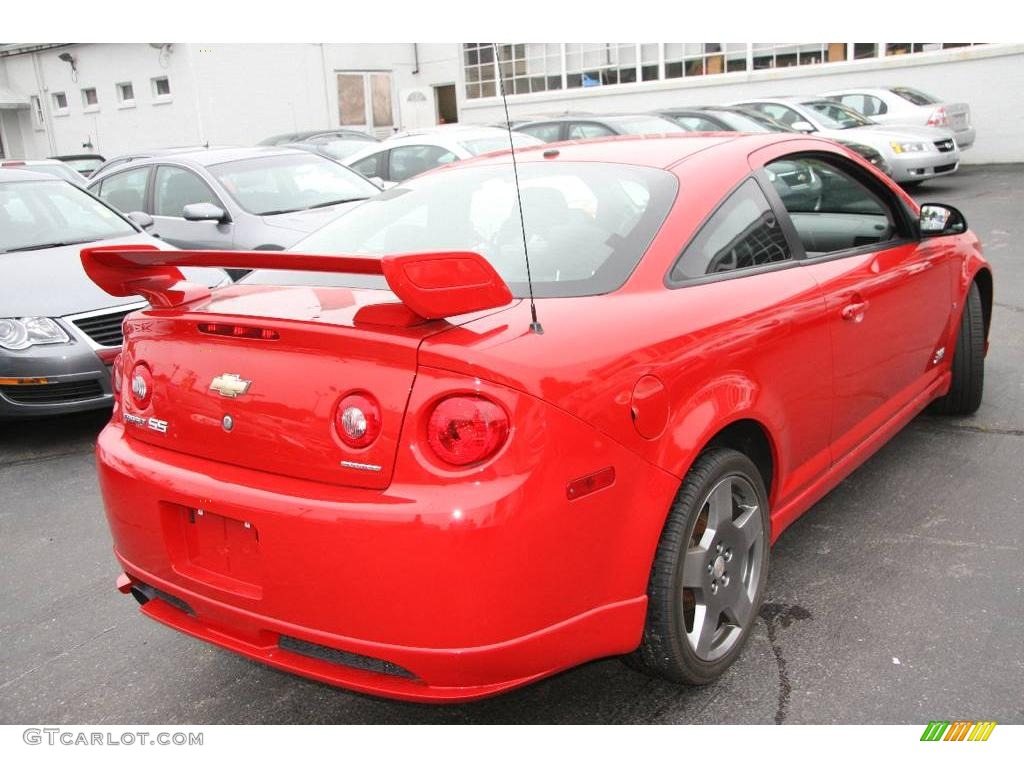
[[[447,464],[476,464],[505,444],[509,419],[496,402],[477,395],[453,395],[437,403],[427,422],[427,441]]]

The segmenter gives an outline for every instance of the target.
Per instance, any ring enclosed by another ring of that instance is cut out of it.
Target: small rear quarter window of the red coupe
[[[670,279],[682,282],[792,258],[768,200],[757,181],[748,179],[700,227]]]

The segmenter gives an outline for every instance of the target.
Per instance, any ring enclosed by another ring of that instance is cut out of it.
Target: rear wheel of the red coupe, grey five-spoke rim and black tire
[[[723,485],[726,480],[728,485]],[[723,496],[717,495],[720,490]],[[731,526],[721,517],[713,526],[713,499],[719,500],[717,509],[728,505]],[[757,509],[751,509],[754,504]],[[770,550],[768,525],[764,482],[750,459],[731,449],[713,449],[697,458],[662,531],[647,586],[643,640],[625,658],[627,664],[649,675],[689,685],[710,683],[725,672],[742,651],[764,598]],[[760,534],[754,537],[756,528]],[[731,574],[729,568],[733,568]],[[684,579],[700,586],[684,586]],[[724,606],[733,599],[735,605],[719,610],[720,604]],[[741,614],[737,612],[740,609]],[[694,636],[703,637],[700,628],[706,620],[698,626],[697,617],[713,614],[711,641],[702,646],[701,654],[697,648],[702,640],[697,642]],[[715,642],[719,643],[717,647]]]

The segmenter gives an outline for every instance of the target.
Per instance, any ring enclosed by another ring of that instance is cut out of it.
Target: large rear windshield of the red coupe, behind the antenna
[[[534,292],[547,297],[621,287],[665,221],[678,186],[667,171],[598,163],[525,163],[519,181]],[[413,179],[289,250],[351,256],[473,251],[495,266],[514,295],[527,295],[508,164],[456,167]],[[276,270],[257,270],[244,282],[385,287],[383,279]]]

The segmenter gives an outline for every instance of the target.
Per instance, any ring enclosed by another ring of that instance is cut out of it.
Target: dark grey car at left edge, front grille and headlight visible
[[[0,169],[0,421],[110,408],[121,321],[145,306],[82,269],[82,246],[168,249],[61,179]],[[188,270],[202,285],[220,269]]]

